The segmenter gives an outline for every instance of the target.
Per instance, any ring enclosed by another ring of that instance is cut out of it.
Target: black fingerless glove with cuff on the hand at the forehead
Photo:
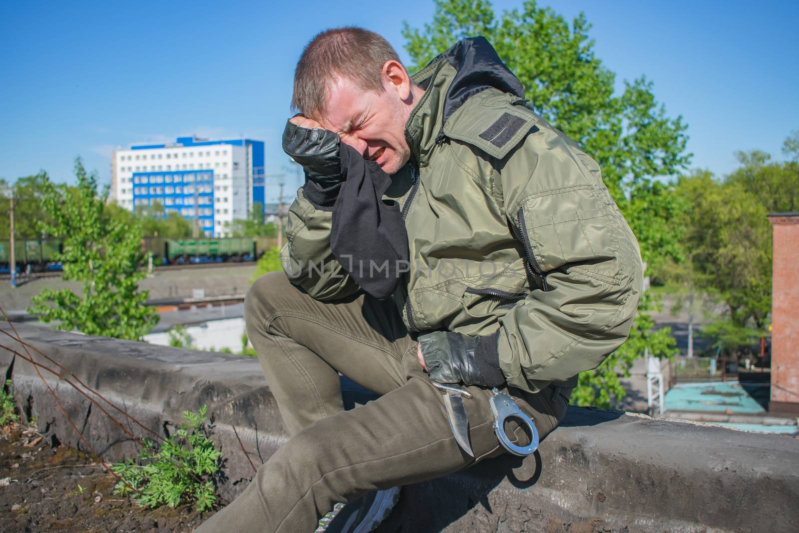
[[[283,130],[283,151],[302,165],[305,197],[320,209],[332,209],[344,180],[339,142],[329,129],[303,128],[287,121]]]

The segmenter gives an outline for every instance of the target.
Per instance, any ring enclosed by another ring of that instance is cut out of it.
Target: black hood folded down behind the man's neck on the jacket
[[[505,66],[484,37],[470,37],[456,42],[455,46],[437,56],[428,66],[441,60],[446,60],[457,71],[444,99],[442,125],[463,102],[485,89],[499,89],[503,93],[524,97],[522,82]],[[431,78],[423,80],[419,86],[427,90]]]

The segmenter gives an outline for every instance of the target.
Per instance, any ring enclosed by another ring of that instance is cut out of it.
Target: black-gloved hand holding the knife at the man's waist
[[[419,345],[431,380],[495,387],[505,382],[496,355],[496,340],[496,335],[431,332],[419,336]]]

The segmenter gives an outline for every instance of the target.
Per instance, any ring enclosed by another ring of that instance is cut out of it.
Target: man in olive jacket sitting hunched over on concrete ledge
[[[286,272],[246,300],[292,437],[199,531],[312,531],[337,502],[499,455],[494,387],[546,436],[638,304],[638,244],[598,165],[532,111],[484,38],[411,78],[379,35],[325,31],[293,104],[284,149],[306,181]],[[380,398],[344,411],[339,372]],[[471,393],[474,456],[434,382]]]

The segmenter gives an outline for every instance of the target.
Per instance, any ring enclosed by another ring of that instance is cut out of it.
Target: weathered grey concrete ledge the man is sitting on
[[[207,404],[215,439],[228,459],[229,481],[222,487],[228,499],[252,475],[233,426],[256,466],[284,443],[257,360],[39,326],[17,328],[26,342],[161,435],[183,411]],[[5,323],[0,329],[10,330]],[[0,344],[24,353],[3,337]],[[0,369],[13,373],[17,400],[37,416],[40,428],[85,449],[33,365],[0,349]],[[133,441],[88,400],[58,377],[42,374],[98,453],[119,460],[135,452]],[[352,386],[345,396],[363,401],[368,393]],[[146,436],[141,428],[134,433]],[[797,501],[799,440],[793,437],[570,408],[561,427],[527,459],[504,456],[404,487],[400,507],[380,529],[795,531]]]

